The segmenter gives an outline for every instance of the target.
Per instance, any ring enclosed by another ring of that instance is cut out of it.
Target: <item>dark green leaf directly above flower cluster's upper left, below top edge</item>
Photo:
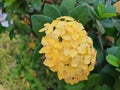
[[[61,16],[59,9],[55,5],[45,4],[44,15],[56,19]]]

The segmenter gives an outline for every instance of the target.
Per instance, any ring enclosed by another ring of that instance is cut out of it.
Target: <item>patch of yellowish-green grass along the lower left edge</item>
[[[24,90],[25,79],[13,75],[21,44],[20,36],[10,40],[7,32],[0,35],[0,90]]]

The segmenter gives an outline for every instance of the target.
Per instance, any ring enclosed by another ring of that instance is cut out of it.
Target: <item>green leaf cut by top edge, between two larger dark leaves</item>
[[[62,0],[60,7],[64,7],[67,10],[70,10],[75,7],[76,0]]]

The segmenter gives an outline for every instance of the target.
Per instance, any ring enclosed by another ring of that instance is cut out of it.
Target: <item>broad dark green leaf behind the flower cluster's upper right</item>
[[[72,9],[68,15],[79,20],[83,25],[85,25],[89,17],[89,8],[87,5],[79,5]]]

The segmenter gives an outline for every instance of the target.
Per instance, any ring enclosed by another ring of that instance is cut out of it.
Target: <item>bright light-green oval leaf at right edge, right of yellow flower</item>
[[[109,64],[115,66],[115,67],[119,67],[119,64],[118,64],[118,59],[113,56],[113,55],[107,55],[106,57],[106,60]]]

